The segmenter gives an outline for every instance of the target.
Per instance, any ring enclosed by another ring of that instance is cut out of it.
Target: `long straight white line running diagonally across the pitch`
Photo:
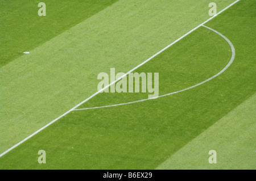
[[[101,91],[104,91],[105,89],[107,89],[109,86],[113,85],[115,82],[119,81],[120,79],[122,79],[123,77],[125,77],[127,74],[131,73],[132,71],[134,71],[135,69],[138,69],[140,66],[142,66],[143,64],[146,64],[146,62],[150,61],[152,58],[154,58],[155,56],[157,56],[158,54],[162,53],[164,50],[166,50],[167,48],[171,47],[172,45],[174,45],[175,43],[177,43],[177,41],[180,41],[181,39],[183,39],[185,36],[189,35],[190,33],[192,33],[193,31],[197,30],[197,28],[203,26],[205,23],[209,22],[209,20],[212,20],[213,18],[215,18],[217,15],[221,14],[223,11],[229,9],[229,7],[233,6],[234,4],[236,4],[237,2],[239,2],[240,0],[237,0],[235,2],[233,2],[232,4],[230,4],[229,6],[225,7],[225,9],[221,10],[220,12],[218,12],[216,15],[212,16],[211,18],[209,18],[208,20],[206,20],[204,23],[199,24],[199,26],[193,28],[193,30],[185,33],[185,35],[181,36],[179,39],[175,40],[174,42],[172,42],[170,45],[168,45],[167,47],[163,48],[162,50],[160,50],[158,53],[154,54],[153,56],[151,56],[150,58],[148,58],[147,60],[145,60],[144,62],[142,62],[141,64],[139,64],[138,66],[136,66],[135,68],[131,69],[130,71],[128,71],[126,74],[124,74],[122,77],[119,77],[118,79],[116,79],[114,82],[110,83],[108,86],[105,86],[104,88],[102,88],[101,90],[97,91],[96,93],[94,93],[93,95],[89,96],[89,98],[85,99],[84,101],[82,101],[81,103],[77,104],[75,107],[71,108],[71,110],[65,112],[63,115],[57,117],[55,120],[51,121],[50,123],[48,123],[47,125],[45,125],[44,127],[40,128],[38,131],[36,131],[35,133],[32,133],[30,136],[24,138],[24,140],[18,142],[18,144],[12,146],[11,148],[9,148],[8,150],[4,151],[3,153],[0,154],[0,157],[2,157],[3,155],[5,155],[6,153],[8,153],[9,151],[13,150],[14,148],[16,148],[17,146],[19,146],[20,144],[22,144],[23,142],[27,141],[29,138],[31,138],[32,136],[34,136],[35,134],[39,133],[40,131],[42,131],[43,129],[47,128],[49,125],[55,123],[55,121],[61,119],[61,117],[67,115],[69,112],[75,110],[77,107],[81,106],[81,104],[84,104],[85,102],[87,102],[88,100],[92,99],[94,96],[96,96],[97,94],[99,94]]]

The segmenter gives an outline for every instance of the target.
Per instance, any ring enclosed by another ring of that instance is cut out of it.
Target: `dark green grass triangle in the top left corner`
[[[117,0],[46,0],[46,16],[39,16],[37,0],[1,0],[0,66],[38,47]]]

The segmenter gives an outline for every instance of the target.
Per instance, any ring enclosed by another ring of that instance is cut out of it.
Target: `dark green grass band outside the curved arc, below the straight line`
[[[4,155],[1,158],[3,168],[154,169],[255,93],[253,53],[244,54],[241,50],[247,48],[248,52],[253,52],[254,47],[248,45],[253,44],[251,35],[254,30],[246,26],[245,32],[245,26],[239,26],[253,18],[248,18],[250,11],[243,14],[247,18],[235,15],[250,8],[251,2],[243,1],[209,23],[214,26],[214,23],[222,24],[228,20],[229,24],[214,29],[225,30],[223,34],[238,49],[232,69],[220,77],[181,94],[152,100],[151,104],[142,102],[136,106],[71,112]],[[233,29],[234,24],[236,29]],[[247,44],[237,38],[237,33]],[[195,39],[189,39],[190,46],[195,46],[192,42],[197,42],[196,38],[201,36],[207,37],[198,32]],[[216,43],[221,46],[225,42]],[[219,48],[217,52],[224,50]],[[179,50],[185,52],[185,49],[188,47]],[[226,51],[226,54],[230,55],[230,52]],[[153,62],[150,62],[152,67]],[[44,165],[37,162],[40,149],[46,150],[48,155]]]

